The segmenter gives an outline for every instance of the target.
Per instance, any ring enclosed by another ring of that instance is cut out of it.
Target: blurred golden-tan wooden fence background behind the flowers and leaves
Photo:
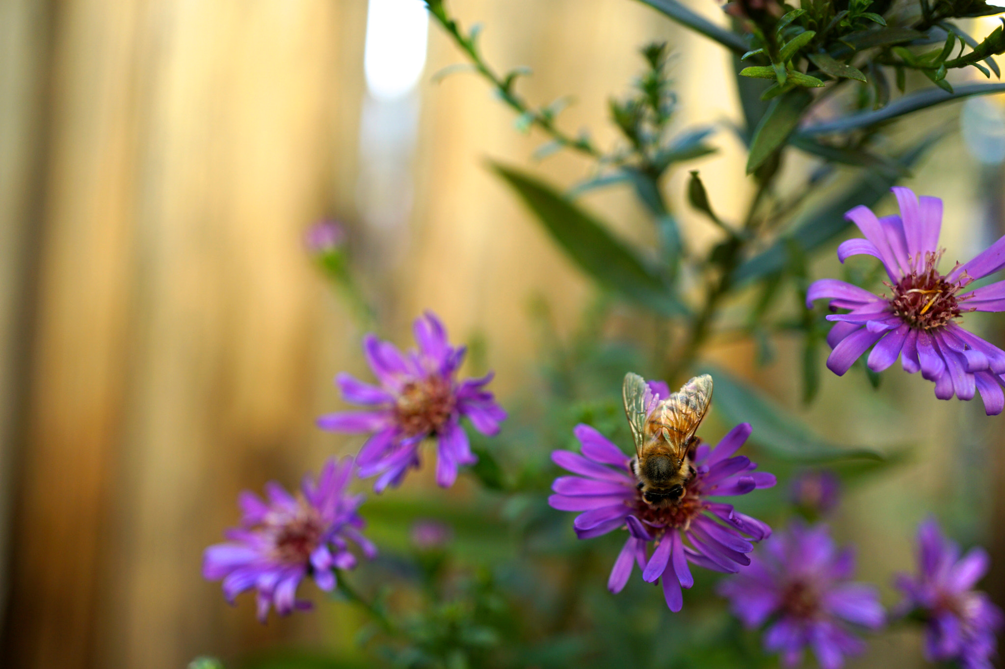
[[[489,62],[534,69],[520,83],[528,98],[571,94],[560,124],[591,128],[601,145],[614,138],[607,98],[627,90],[636,47],[653,39],[679,54],[680,126],[739,117],[725,50],[639,3],[450,4],[465,24],[484,24]],[[690,6],[723,20],[711,0]],[[993,25],[975,21],[973,34]],[[348,607],[322,601],[263,627],[249,601],[226,606],[200,576],[202,550],[237,521],[240,489],[292,486],[360,445],[314,425],[344,408],[338,371],[368,372],[362,330],[312,263],[306,230],[343,222],[381,334],[410,345],[411,320],[434,310],[473,345],[472,365],[496,371],[504,405],[535,387],[542,305],[567,337],[595,296],[484,166],[501,160],[568,186],[587,163],[565,153],[536,163],[544,139],[516,128],[481,80],[431,79],[461,59],[418,0],[0,0],[6,666],[168,669],[199,654],[353,646]],[[947,135],[906,184],[945,199],[947,260],[966,260],[1005,232],[1005,101],[922,117]],[[717,211],[737,215],[750,189],[739,140],[724,130],[713,143],[720,151],[695,166]],[[675,174],[667,195],[684,235],[711,245],[716,229],[682,204],[685,178]],[[648,239],[628,194],[585,202],[624,236]],[[816,276],[834,267],[828,252]],[[1001,345],[1002,322],[982,324]],[[619,311],[605,332],[631,327]],[[715,351],[796,409],[797,355],[781,341],[758,367],[747,345]],[[857,543],[860,576],[891,604],[915,525],[936,513],[992,551],[986,586],[1005,603],[1001,417],[939,402],[898,368],[883,376],[874,392],[864,376],[824,372],[804,411],[841,442],[914,447],[895,473],[849,496],[836,534]],[[400,498],[469,493],[420,475]],[[406,507],[381,516],[378,503],[375,534],[405,541],[387,528],[407,525]],[[890,658],[920,666],[918,639],[876,642],[856,666]]]

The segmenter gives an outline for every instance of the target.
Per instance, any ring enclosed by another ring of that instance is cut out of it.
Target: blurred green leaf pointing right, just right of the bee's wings
[[[824,439],[769,399],[763,390],[722,369],[707,367],[700,373],[712,374],[715,381],[714,406],[730,423],[749,422],[754,428],[750,440],[773,457],[805,463],[884,459],[875,450],[848,448]]]

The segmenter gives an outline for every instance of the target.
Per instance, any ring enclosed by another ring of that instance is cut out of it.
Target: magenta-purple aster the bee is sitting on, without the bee
[[[697,447],[695,475],[687,481],[680,500],[665,509],[654,509],[642,498],[628,468],[631,458],[616,445],[589,425],[577,425],[574,433],[583,454],[556,450],[552,459],[580,475],[556,478],[552,485],[555,494],[548,504],[559,511],[584,512],[573,523],[580,539],[622,528],[628,531],[607,582],[611,592],[621,592],[633,565],[638,564],[644,581],[653,583],[662,578],[666,606],[670,611],[680,611],[680,589],[694,584],[687,563],[736,573],[741,566],[750,564],[747,554],[754,549],[751,541],[771,536],[771,528],[761,521],[711,498],[747,494],[775,484],[773,474],[754,471],[757,464],[747,457],[732,457],[750,435],[749,424],[734,427],[715,449],[706,444]],[[646,550],[649,543],[655,547],[651,556]]]

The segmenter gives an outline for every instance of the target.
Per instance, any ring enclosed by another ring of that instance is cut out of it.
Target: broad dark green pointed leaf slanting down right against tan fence
[[[491,168],[517,191],[569,257],[598,283],[658,313],[687,313],[670,287],[606,226],[537,179],[498,163]]]

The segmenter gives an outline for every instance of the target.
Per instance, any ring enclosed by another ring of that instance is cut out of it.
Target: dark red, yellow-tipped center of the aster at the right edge
[[[927,252],[921,270],[904,276],[896,285],[886,284],[893,291],[893,313],[916,330],[941,328],[964,311],[960,303],[967,298],[957,297],[957,293],[971,280],[964,274],[956,283],[947,281],[936,269],[942,254],[943,250]]]

